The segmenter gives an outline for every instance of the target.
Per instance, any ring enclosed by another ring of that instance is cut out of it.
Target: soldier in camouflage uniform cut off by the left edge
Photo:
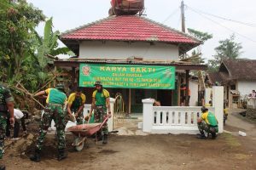
[[[7,116],[11,125],[15,123],[14,116],[14,99],[8,88],[0,84],[0,159],[3,158],[4,138],[7,125]],[[5,169],[5,166],[0,166],[0,170]]]

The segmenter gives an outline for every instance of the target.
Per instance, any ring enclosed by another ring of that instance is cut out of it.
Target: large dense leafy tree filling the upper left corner
[[[44,14],[25,0],[1,2],[0,10],[0,80],[10,84],[24,82],[35,58],[35,28]],[[27,84],[27,83],[26,83]],[[28,84],[29,85],[29,84]]]

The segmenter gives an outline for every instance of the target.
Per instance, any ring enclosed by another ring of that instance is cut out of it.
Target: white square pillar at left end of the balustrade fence
[[[151,133],[154,99],[143,99],[143,132]]]

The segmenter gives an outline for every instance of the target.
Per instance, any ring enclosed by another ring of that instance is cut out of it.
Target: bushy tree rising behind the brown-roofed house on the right
[[[218,71],[218,66],[224,59],[237,59],[241,52],[241,42],[235,41],[235,35],[232,34],[230,38],[219,41],[219,45],[215,48],[216,54],[213,59],[208,61],[210,71]]]

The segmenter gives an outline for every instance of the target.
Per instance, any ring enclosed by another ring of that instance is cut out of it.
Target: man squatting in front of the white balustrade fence
[[[200,134],[198,138],[205,139],[205,132],[212,134],[212,139],[216,138],[216,133],[218,133],[218,121],[215,115],[211,111],[208,111],[206,107],[201,108],[202,115],[197,120],[197,126]]]

